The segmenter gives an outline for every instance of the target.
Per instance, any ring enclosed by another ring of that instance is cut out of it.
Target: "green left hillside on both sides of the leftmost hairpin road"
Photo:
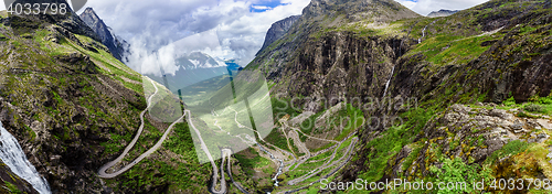
[[[100,180],[98,169],[120,154],[140,125],[139,114],[153,91],[150,79],[82,33],[88,26],[66,26],[81,23],[77,18],[7,17],[1,12],[0,120],[31,153],[30,161],[52,190],[206,192],[211,169],[199,163],[185,123],[178,125],[159,151],[129,172]],[[170,94],[156,85],[158,97]],[[168,106],[160,104],[152,111]],[[147,114],[138,146],[121,164],[151,148],[168,125]]]

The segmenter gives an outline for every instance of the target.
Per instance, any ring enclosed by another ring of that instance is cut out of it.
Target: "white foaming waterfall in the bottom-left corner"
[[[0,160],[19,177],[29,182],[41,194],[49,194],[50,186],[36,169],[26,160],[18,140],[8,132],[0,122]]]

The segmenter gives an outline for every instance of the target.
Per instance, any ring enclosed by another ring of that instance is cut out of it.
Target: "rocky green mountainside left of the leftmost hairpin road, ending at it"
[[[146,108],[141,75],[116,60],[74,12],[4,13],[0,14],[2,126],[18,139],[53,192],[112,191],[96,173],[136,131],[137,116]],[[163,127],[147,118],[146,130]],[[148,141],[155,140],[141,140]],[[33,193],[13,179],[0,184],[10,182]],[[151,185],[148,191],[160,190]]]

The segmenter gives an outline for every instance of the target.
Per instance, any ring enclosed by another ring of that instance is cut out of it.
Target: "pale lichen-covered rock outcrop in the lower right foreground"
[[[447,158],[460,158],[468,163],[493,163],[497,161],[492,160],[503,159],[493,159],[491,155],[512,141],[533,143],[534,147],[542,147],[546,150],[548,148],[541,143],[550,140],[548,134],[552,130],[550,117],[518,117],[520,112],[522,110],[500,109],[493,104],[477,108],[453,105],[443,115],[429,120],[423,132],[416,137],[425,141],[404,147],[400,151],[392,162],[396,164],[392,174],[394,176],[399,174],[428,176],[431,173],[428,166],[439,164],[439,154]],[[413,153],[414,147],[418,148],[417,153]],[[408,155],[417,155],[412,164],[404,163]],[[548,164],[540,163],[539,165]],[[541,175],[544,174],[541,173]]]

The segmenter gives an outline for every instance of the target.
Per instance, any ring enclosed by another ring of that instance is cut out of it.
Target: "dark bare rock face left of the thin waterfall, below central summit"
[[[393,64],[379,63],[374,58],[392,62],[396,55],[389,42],[393,41],[400,42],[357,39],[350,33],[330,34],[320,42],[309,41],[300,50],[298,61],[284,72],[291,75],[288,93],[309,96],[309,91],[317,91],[319,96],[315,98],[327,99],[347,95],[381,96],[386,79],[378,79],[374,75],[386,77]]]

